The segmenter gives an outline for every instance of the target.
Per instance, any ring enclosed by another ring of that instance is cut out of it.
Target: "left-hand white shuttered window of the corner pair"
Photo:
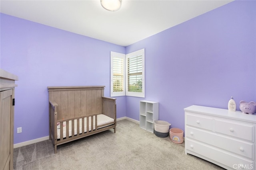
[[[125,96],[125,55],[110,52],[111,55],[111,97]]]

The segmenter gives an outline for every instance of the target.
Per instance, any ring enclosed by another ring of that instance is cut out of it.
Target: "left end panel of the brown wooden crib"
[[[57,131],[57,107],[56,102],[49,101],[49,138],[53,140],[56,138],[55,132]],[[53,143],[55,143],[55,140]]]

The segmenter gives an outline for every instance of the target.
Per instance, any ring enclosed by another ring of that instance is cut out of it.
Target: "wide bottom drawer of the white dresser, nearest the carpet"
[[[236,168],[234,165],[242,165],[244,167],[248,167],[247,169],[251,169],[254,167],[253,160],[241,159],[240,157],[230,154],[228,152],[224,152],[223,150],[217,149],[215,147],[193,141],[190,139],[186,140],[186,150],[188,153],[197,153],[204,157],[207,157],[210,160],[214,160],[218,163],[229,166],[230,168]]]

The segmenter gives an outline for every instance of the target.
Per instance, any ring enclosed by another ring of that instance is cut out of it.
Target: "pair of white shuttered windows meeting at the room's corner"
[[[111,55],[111,97],[145,97],[144,49],[129,53]]]

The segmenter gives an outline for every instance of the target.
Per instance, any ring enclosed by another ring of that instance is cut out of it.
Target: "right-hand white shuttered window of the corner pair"
[[[145,97],[144,49],[126,55],[126,96]]]

